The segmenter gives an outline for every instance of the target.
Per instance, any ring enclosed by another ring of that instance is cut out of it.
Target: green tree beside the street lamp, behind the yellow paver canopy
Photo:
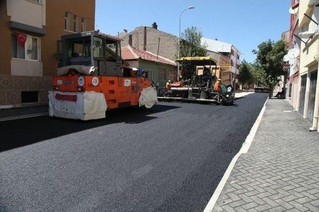
[[[206,44],[201,44],[203,33],[195,26],[181,33],[179,57],[204,57],[207,55]],[[178,45],[178,44],[177,44]]]

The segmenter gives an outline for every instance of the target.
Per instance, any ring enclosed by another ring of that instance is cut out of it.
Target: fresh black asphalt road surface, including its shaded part
[[[0,211],[201,211],[267,95],[0,122]]]

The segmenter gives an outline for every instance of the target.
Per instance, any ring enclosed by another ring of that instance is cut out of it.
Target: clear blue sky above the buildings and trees
[[[288,9],[291,0],[96,0],[96,25],[100,31],[117,35],[138,26],[151,26],[178,35],[180,12],[188,7],[181,19],[181,31],[197,26],[204,37],[232,43],[241,59],[253,62],[252,53],[267,39],[279,40],[289,29]]]

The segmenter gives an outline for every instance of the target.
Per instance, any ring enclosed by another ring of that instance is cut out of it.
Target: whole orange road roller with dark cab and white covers
[[[157,93],[147,75],[136,73],[121,58],[121,39],[89,31],[64,35],[61,61],[49,91],[49,116],[91,120],[106,111],[130,106],[152,107]]]

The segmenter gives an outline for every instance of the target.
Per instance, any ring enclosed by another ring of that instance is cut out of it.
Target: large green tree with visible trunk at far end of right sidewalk
[[[269,87],[269,97],[272,97],[274,86],[280,81],[280,76],[284,75],[283,58],[287,54],[286,41],[277,42],[268,40],[258,45],[255,66],[259,73],[259,81]]]

